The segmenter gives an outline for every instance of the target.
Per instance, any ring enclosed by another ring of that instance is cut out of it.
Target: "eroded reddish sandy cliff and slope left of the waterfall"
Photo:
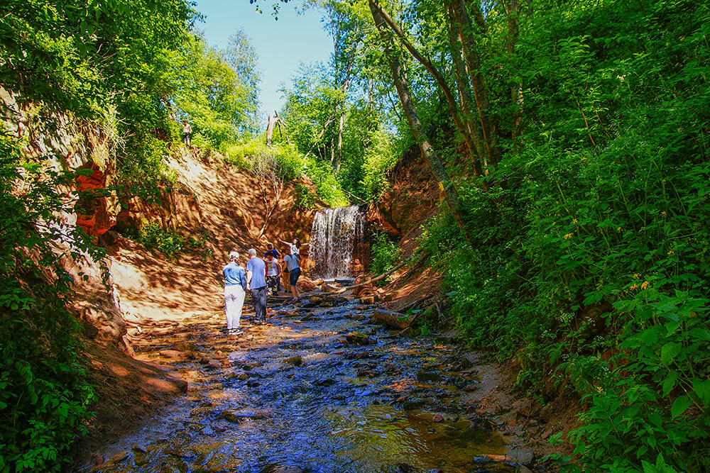
[[[256,178],[238,172],[219,155],[197,148],[178,148],[167,159],[177,182],[157,189],[159,204],[148,204],[136,196],[126,198],[117,190],[121,183],[115,178],[114,130],[109,125],[88,125],[68,114],[56,113],[47,120],[41,118],[42,113],[39,105],[23,106],[11,91],[0,88],[0,126],[25,140],[28,160],[46,169],[89,171],[78,175],[69,188],[61,189],[67,203],[75,204],[75,211],[63,213],[61,219],[64,225],[80,226],[96,238],[107,247],[108,255],[101,261],[62,257],[61,262],[75,279],[73,309],[90,340],[131,354],[127,311],[141,316],[146,310],[157,316],[170,310],[170,299],[183,299],[178,293],[190,291],[190,284],[202,284],[203,294],[214,294],[221,284],[219,270],[232,250],[246,255],[249,247],[262,250],[279,238],[308,240],[313,211],[293,208],[294,183],[285,184],[263,234],[259,230],[266,206]],[[307,179],[300,184],[312,188]],[[271,205],[273,195],[267,194]],[[168,262],[163,255],[146,252],[141,245],[122,238],[122,231],[140,229],[149,222],[185,235],[200,235],[209,252]],[[70,243],[56,243],[60,257],[62,248]],[[180,265],[191,276],[187,281],[194,279],[184,287],[172,281],[170,268]],[[146,284],[141,286],[140,281]],[[214,304],[218,302],[209,303]]]

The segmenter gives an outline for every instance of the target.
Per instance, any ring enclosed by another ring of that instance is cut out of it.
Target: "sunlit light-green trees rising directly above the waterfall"
[[[388,186],[386,172],[398,155],[391,126],[393,101],[376,99],[391,94],[392,86],[384,69],[368,57],[376,45],[371,41],[376,32],[366,21],[368,8],[363,2],[307,3],[322,9],[332,28],[333,61],[328,67],[302,67],[292,87],[284,90],[280,115],[297,149],[315,161],[309,175],[321,183],[319,194],[327,201],[346,201],[345,193],[331,191],[340,188],[359,199],[375,200]],[[337,183],[328,174],[334,174]]]

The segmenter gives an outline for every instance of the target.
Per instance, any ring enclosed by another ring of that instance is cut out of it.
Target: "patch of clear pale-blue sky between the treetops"
[[[275,21],[271,16],[272,1],[261,0],[263,13],[258,13],[249,0],[197,0],[197,10],[205,20],[196,26],[204,30],[210,45],[226,48],[227,39],[239,28],[249,35],[261,69],[260,108],[265,127],[266,113],[283,105],[279,84],[290,86],[301,63],[327,63],[333,49],[319,12],[296,13],[302,2],[290,1],[281,5]]]

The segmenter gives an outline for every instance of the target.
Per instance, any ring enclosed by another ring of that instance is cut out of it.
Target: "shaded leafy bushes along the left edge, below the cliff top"
[[[102,252],[60,218],[73,209],[57,189],[77,173],[23,160],[26,144],[0,133],[0,471],[58,472],[93,396],[67,311],[74,280],[59,257]]]

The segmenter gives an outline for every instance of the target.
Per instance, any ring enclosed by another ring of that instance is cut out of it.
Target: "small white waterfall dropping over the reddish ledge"
[[[364,218],[360,206],[323,208],[313,218],[308,257],[322,279],[350,276],[353,249],[362,238]]]

